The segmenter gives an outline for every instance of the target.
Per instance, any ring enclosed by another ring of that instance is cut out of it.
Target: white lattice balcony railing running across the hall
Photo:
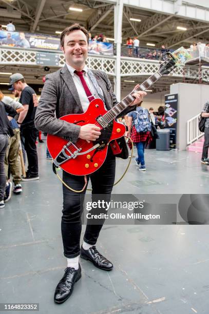
[[[209,47],[205,47],[205,55],[208,55],[209,60]],[[37,63],[37,53],[47,52],[47,56],[54,54],[59,55],[58,67],[65,65],[65,58],[62,52],[41,51],[35,49],[20,49],[20,48],[0,48],[0,65],[39,65]],[[199,50],[198,50],[199,53]],[[193,55],[194,57],[195,55]],[[53,63],[53,61],[52,61]],[[52,65],[54,66],[54,65]],[[87,58],[87,66],[90,69],[102,70],[107,74],[116,76],[116,56],[93,55],[89,54]],[[148,60],[143,58],[130,58],[121,57],[121,76],[144,76],[154,74],[159,68],[159,61]],[[178,67],[172,72],[173,76],[199,79],[199,70],[194,67]],[[209,82],[208,67],[201,67],[202,80]],[[169,76],[168,76],[169,80]]]

